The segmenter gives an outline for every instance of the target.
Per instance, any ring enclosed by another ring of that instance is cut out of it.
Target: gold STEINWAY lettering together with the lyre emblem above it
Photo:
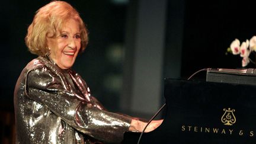
[[[181,131],[183,132],[193,132],[193,133],[210,133],[210,134],[220,134],[220,135],[238,135],[238,136],[249,136],[254,137],[253,130],[236,129],[233,127],[236,123],[235,109],[223,108],[224,113],[220,116],[221,122],[228,127],[209,127],[200,126],[200,124],[183,124],[181,126]],[[214,125],[214,124],[213,124]]]

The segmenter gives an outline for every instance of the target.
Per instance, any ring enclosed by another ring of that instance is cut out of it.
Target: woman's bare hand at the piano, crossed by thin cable
[[[160,124],[162,123],[163,120],[152,120],[151,123],[149,123],[148,127],[146,127],[145,132],[151,132],[152,130],[155,130]],[[134,120],[132,119],[129,127],[129,131],[132,132],[142,132],[143,129],[145,128],[146,124],[143,121],[140,120]]]

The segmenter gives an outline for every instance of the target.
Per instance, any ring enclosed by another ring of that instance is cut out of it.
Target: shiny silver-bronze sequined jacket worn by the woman
[[[14,108],[16,143],[118,143],[131,121],[105,110],[78,73],[47,56],[21,72]]]

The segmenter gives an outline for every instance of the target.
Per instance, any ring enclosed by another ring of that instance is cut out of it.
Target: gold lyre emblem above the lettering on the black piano
[[[228,108],[228,110],[226,110],[226,108],[223,108],[223,111],[225,111],[225,113],[223,114],[221,119],[222,123],[227,126],[232,126],[236,122],[235,115],[233,114],[235,109],[231,110],[231,108]]]

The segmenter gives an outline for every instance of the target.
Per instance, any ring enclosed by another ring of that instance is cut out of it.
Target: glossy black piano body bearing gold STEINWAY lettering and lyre
[[[256,85],[165,79],[164,96],[163,123],[140,143],[256,143]]]

